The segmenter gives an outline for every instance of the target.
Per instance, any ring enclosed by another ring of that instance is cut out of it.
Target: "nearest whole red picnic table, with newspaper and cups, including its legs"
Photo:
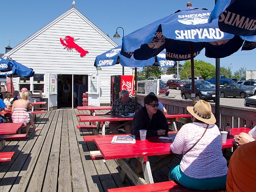
[[[222,148],[232,147],[234,135],[239,135],[241,132],[248,133],[250,130],[250,128],[232,128],[231,135],[228,137],[227,143],[222,143]],[[168,133],[168,137],[170,137],[171,133]],[[172,140],[160,139],[159,136],[147,137],[145,141],[141,141],[139,137],[136,137],[135,144],[111,144],[113,136],[114,135],[102,135],[102,137],[95,137],[94,142],[104,160],[117,160],[122,170],[121,180],[125,181],[126,175],[128,175],[135,185],[153,183],[148,156],[173,154],[170,150]],[[164,136],[167,137],[167,135]],[[141,178],[139,174],[136,173],[134,168],[130,165],[130,160],[125,159],[132,157],[137,158],[142,163],[145,179]]]

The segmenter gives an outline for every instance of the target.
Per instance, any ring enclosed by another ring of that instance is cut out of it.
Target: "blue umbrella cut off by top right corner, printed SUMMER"
[[[221,31],[244,36],[247,41],[256,41],[256,1],[218,0],[209,17],[217,19]],[[250,36],[250,37],[248,37]]]

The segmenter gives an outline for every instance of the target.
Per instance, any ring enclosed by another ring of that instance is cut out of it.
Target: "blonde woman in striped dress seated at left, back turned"
[[[23,123],[25,125],[25,133],[28,134],[30,128],[30,117],[27,112],[27,109],[32,109],[32,104],[28,101],[28,92],[22,91],[19,100],[15,100],[12,105],[12,122],[14,123]],[[36,128],[35,132],[40,131],[41,129]],[[28,138],[28,135],[26,136]]]

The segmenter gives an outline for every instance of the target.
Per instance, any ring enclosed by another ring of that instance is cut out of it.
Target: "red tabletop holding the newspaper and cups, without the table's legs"
[[[232,128],[232,135],[228,137],[227,143],[222,143],[223,148],[233,146],[234,135],[238,135],[241,132],[249,132],[250,130],[249,128]],[[166,137],[167,135],[164,136]],[[136,137],[135,144],[111,144],[113,137],[96,137],[94,142],[105,160],[171,154],[171,140],[159,139],[159,137],[148,137],[145,141],[141,141],[139,137]]]

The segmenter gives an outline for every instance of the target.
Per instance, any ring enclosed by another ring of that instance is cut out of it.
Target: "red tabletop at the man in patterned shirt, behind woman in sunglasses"
[[[187,114],[165,114],[167,119],[178,117],[191,117]],[[133,117],[111,116],[111,115],[99,115],[99,116],[80,116],[81,122],[95,122],[95,121],[132,121]]]

